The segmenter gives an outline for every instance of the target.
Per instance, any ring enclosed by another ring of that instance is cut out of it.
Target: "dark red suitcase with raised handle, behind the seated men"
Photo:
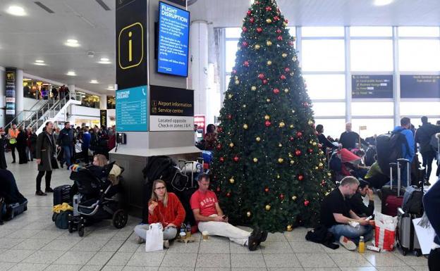
[[[401,187],[401,163],[408,163],[407,159],[398,159],[397,163],[390,163],[390,187],[382,187],[381,189],[381,213],[397,216],[397,209],[403,205],[403,194],[405,189]],[[397,187],[393,188],[393,167],[397,168]],[[409,165],[408,165],[409,167]],[[410,181],[410,170],[407,170],[408,182]]]

